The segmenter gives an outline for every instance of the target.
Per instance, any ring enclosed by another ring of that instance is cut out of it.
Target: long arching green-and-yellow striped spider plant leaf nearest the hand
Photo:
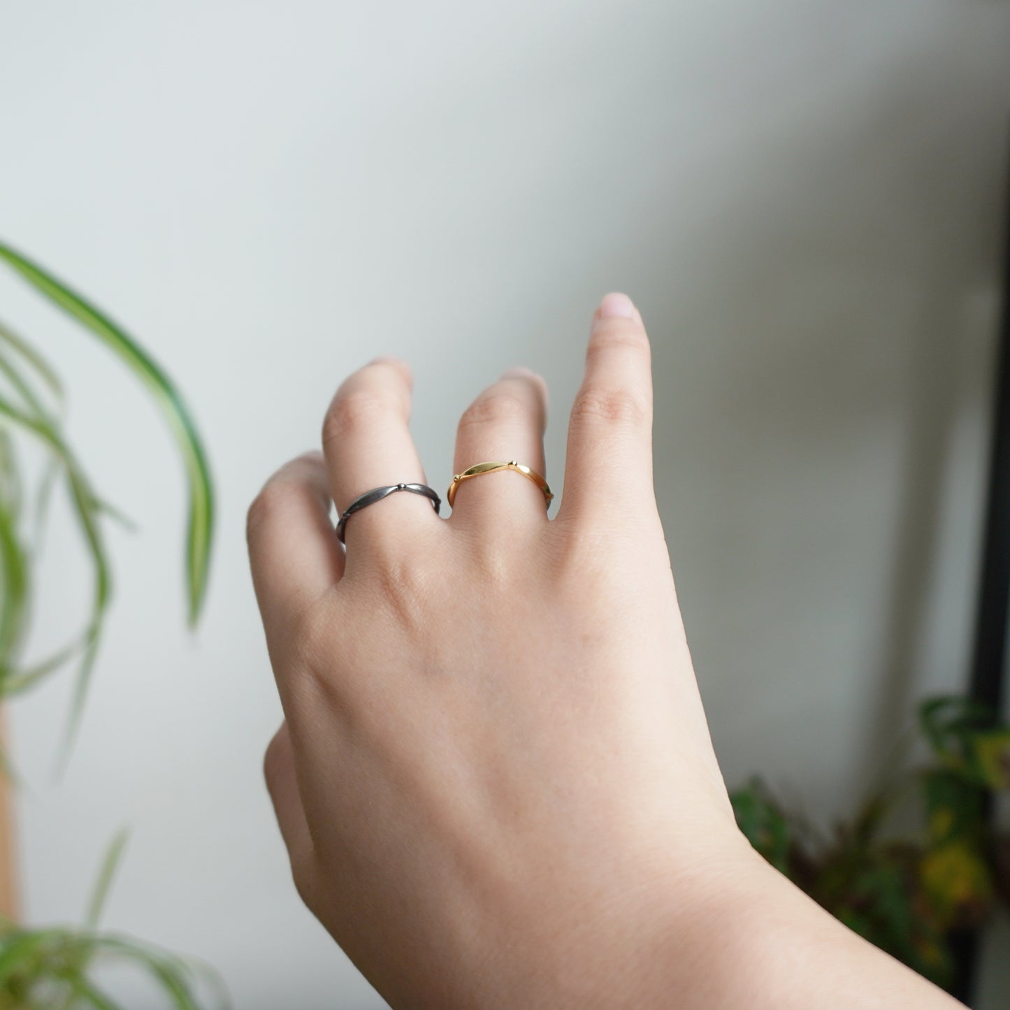
[[[203,443],[179,391],[162,368],[121,326],[83,296],[9,245],[0,243],[0,260],[114,351],[152,393],[168,421],[185,464],[189,486],[187,596],[190,623],[195,623],[207,590],[214,494]]]

